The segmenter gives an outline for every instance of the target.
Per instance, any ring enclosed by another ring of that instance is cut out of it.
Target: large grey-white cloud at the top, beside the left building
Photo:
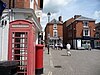
[[[72,0],[44,0],[43,12],[57,13]]]

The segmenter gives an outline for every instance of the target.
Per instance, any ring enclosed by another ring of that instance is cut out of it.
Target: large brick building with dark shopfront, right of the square
[[[72,48],[94,48],[95,20],[81,15],[75,15],[63,24],[63,44],[71,44]]]

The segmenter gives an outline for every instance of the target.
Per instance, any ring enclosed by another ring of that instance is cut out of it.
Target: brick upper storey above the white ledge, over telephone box
[[[7,4],[7,8],[32,8],[42,9],[43,0],[3,0]]]

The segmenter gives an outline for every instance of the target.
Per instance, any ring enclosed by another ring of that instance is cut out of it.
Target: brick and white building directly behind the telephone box
[[[15,20],[28,20],[36,25],[35,43],[42,31],[40,18],[43,0],[3,0],[7,4],[0,21],[0,60],[8,60],[9,24]],[[39,12],[38,12],[39,11]]]

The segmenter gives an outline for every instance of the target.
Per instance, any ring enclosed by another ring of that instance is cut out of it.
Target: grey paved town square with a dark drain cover
[[[44,48],[44,74],[42,75],[100,75],[100,50],[54,50]]]

